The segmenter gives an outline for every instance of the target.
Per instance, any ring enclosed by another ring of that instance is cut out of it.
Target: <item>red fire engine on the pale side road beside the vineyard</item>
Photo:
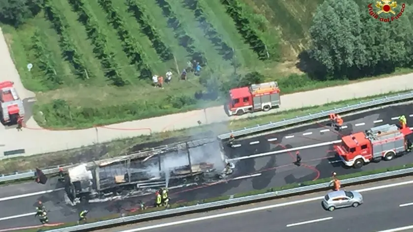
[[[247,112],[269,111],[280,104],[278,84],[268,82],[231,89],[229,103],[226,107],[230,116],[240,116]]]

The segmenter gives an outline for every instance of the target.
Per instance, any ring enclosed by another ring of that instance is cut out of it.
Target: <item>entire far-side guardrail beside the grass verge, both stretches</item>
[[[244,128],[242,130],[237,130],[237,131],[231,131],[229,133],[226,134],[221,134],[218,136],[218,139],[220,140],[225,140],[225,139],[229,139],[230,135],[233,134],[235,137],[237,136],[242,136],[242,135],[247,135],[247,134],[253,134],[253,133],[257,133],[257,132],[261,132],[261,131],[266,131],[266,130],[270,130],[270,129],[275,129],[278,127],[285,127],[288,125],[292,125],[292,124],[297,124],[297,123],[303,123],[306,121],[310,121],[310,120],[314,120],[314,119],[318,119],[318,118],[324,118],[327,117],[329,114],[331,113],[344,113],[344,112],[349,112],[349,111],[354,111],[357,109],[362,109],[362,108],[367,108],[367,107],[372,107],[372,106],[377,106],[377,105],[381,105],[381,104],[385,104],[385,103],[390,103],[390,102],[395,102],[395,101],[401,101],[401,100],[406,100],[406,99],[411,99],[413,98],[413,91],[410,91],[408,93],[399,93],[396,95],[392,95],[389,97],[383,97],[380,99],[376,99],[376,100],[372,100],[372,101],[368,101],[368,102],[360,102],[358,104],[355,105],[348,105],[346,107],[342,107],[342,108],[334,108],[332,110],[329,111],[322,111],[320,113],[317,114],[309,114],[308,116],[302,116],[302,117],[295,117],[293,119],[284,119],[282,121],[279,122],[270,122],[268,124],[265,125],[257,125],[255,127],[251,127],[251,128]],[[94,165],[100,165],[100,164],[110,164],[113,162],[119,162],[121,160],[125,160],[125,159],[129,159],[129,158],[133,158],[134,156],[141,156],[141,155],[148,155],[150,153],[153,152],[161,152],[164,149],[167,149],[168,147],[177,147],[179,145],[183,145],[184,143],[176,143],[174,145],[165,145],[165,146],[160,146],[160,147],[155,147],[155,148],[151,148],[148,150],[144,150],[144,151],[139,151],[137,153],[134,154],[128,154],[128,155],[124,155],[124,156],[120,156],[120,157],[116,157],[116,158],[112,158],[112,159],[107,159],[107,160],[101,160],[101,161],[95,161],[95,162],[90,162],[88,163],[88,167],[92,167]],[[47,169],[42,169],[44,174],[57,174],[59,172],[59,167],[63,168],[63,171],[67,171],[68,169],[76,166],[78,164],[72,164],[72,165],[67,165],[67,166],[63,166],[63,165],[59,165],[57,167],[53,167],[53,168],[47,168]],[[0,183],[4,182],[4,181],[11,181],[11,180],[18,180],[18,179],[25,179],[25,178],[30,178],[30,177],[34,177],[35,173],[34,171],[28,171],[25,173],[14,173],[14,174],[4,174],[1,175],[0,174]]]

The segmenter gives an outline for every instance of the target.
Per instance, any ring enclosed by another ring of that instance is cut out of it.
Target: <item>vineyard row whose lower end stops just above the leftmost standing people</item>
[[[136,65],[137,69],[141,72],[142,79],[152,77],[152,72],[145,62],[146,58],[142,47],[125,27],[125,20],[119,14],[118,9],[113,7],[112,0],[98,0],[98,2],[106,12],[107,18],[113,28],[118,31],[118,36],[120,41],[122,41],[123,51],[130,59],[130,63]]]

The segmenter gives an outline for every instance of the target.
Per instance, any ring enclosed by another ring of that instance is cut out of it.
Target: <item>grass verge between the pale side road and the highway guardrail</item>
[[[394,93],[401,92],[405,91]],[[266,116],[238,119],[234,120],[230,125],[227,125],[228,123],[215,123],[177,131],[154,133],[150,136],[139,136],[129,139],[116,140],[105,144],[80,147],[76,149],[3,159],[0,160],[0,173],[6,174],[16,171],[30,170],[35,167],[51,167],[60,164],[90,162],[98,159],[116,157],[119,155],[124,155],[125,153],[143,150],[145,148],[176,143],[194,138],[213,136],[216,134],[226,133],[228,132],[228,130],[241,129],[257,124],[268,123],[270,121],[275,122],[283,119],[294,118],[297,116],[306,116],[308,114],[330,110],[334,107],[343,107],[346,105],[358,103],[360,101],[369,101],[388,95],[389,93],[386,93],[362,99],[352,99],[341,102],[333,102],[322,106],[284,111]]]

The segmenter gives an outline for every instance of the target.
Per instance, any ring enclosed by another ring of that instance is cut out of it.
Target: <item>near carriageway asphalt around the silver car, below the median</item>
[[[349,190],[375,188],[378,185],[392,184],[394,181],[379,182],[356,186]],[[383,183],[383,184],[382,184]],[[172,225],[146,229],[142,231],[156,232],[378,232],[413,224],[413,184],[361,192],[364,203],[357,208],[349,207],[336,209],[333,212],[325,210],[322,200],[291,205],[279,205],[288,202],[301,201],[315,197],[322,197],[323,193],[307,196],[280,199],[258,204],[250,204],[235,208],[222,209],[207,213],[186,215],[163,220],[144,222],[130,226],[102,230],[102,232],[126,232],[133,229],[144,229],[166,223]],[[409,203],[412,203],[409,205]],[[279,205],[263,210],[250,209],[263,206]],[[244,213],[232,213],[244,211]],[[219,216],[227,214],[227,216]],[[228,215],[232,214],[232,215]],[[215,216],[216,218],[194,221],[196,218]],[[177,222],[186,223],[176,224]],[[175,224],[175,225],[174,225]]]

